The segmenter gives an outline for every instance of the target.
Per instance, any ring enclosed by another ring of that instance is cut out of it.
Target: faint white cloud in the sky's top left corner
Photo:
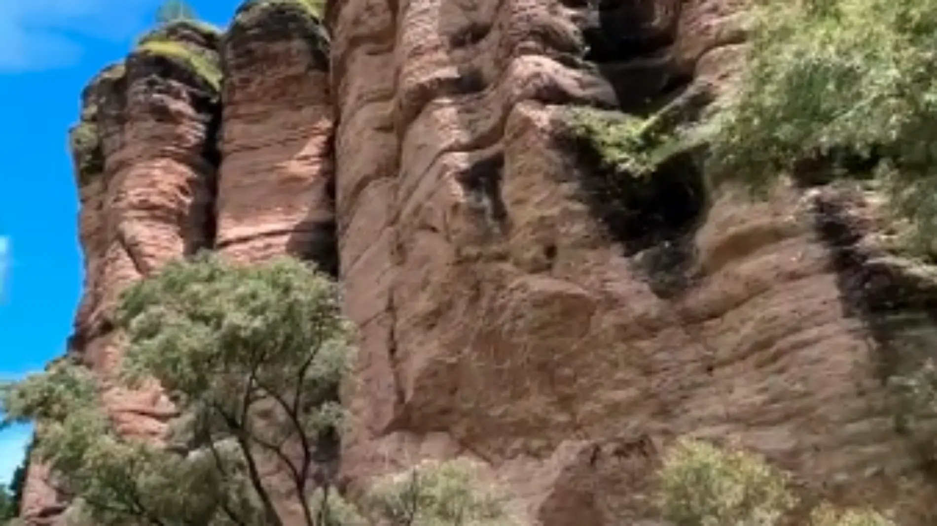
[[[88,38],[119,41],[159,0],[0,0],[0,73],[71,66]]]

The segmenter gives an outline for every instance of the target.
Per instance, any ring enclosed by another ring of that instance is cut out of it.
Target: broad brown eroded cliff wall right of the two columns
[[[738,4],[331,6],[340,276],[362,333],[352,482],[464,454],[538,523],[653,519],[662,447],[693,433],[927,523],[880,343],[843,306],[811,198],[723,190],[685,218],[680,254],[624,256],[633,232],[596,220],[589,168],[559,146],[565,105],[720,95]]]

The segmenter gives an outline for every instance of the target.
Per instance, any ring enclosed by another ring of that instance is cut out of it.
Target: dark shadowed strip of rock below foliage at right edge
[[[937,418],[937,375],[928,369],[937,360],[937,273],[865,245],[869,226],[856,212],[861,198],[821,190],[813,202],[814,230],[830,251],[843,313],[857,318],[875,343],[871,358],[889,388],[896,431],[915,447],[937,480],[937,433],[928,424]],[[906,384],[909,380],[913,383]]]

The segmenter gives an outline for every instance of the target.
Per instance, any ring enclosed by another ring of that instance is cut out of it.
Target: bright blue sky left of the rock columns
[[[160,0],[0,0],[0,379],[65,351],[81,294],[78,200],[66,148],[84,83],[122,58]],[[226,25],[239,0],[190,0]],[[0,482],[28,427],[0,431]]]

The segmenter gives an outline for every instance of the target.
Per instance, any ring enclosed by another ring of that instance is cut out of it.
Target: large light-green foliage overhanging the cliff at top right
[[[751,23],[710,174],[760,186],[829,161],[882,183],[913,241],[937,251],[937,0],[762,0]]]

